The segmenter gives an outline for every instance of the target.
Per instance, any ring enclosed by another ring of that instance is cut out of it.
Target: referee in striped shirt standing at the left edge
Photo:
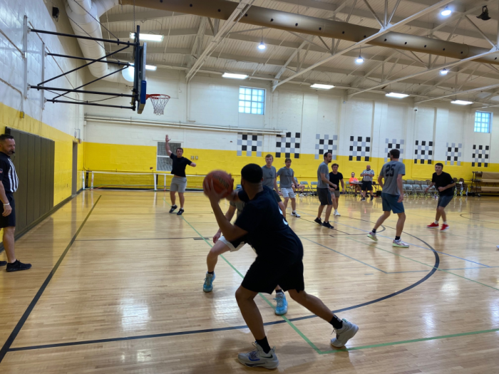
[[[16,202],[14,192],[19,187],[19,178],[11,155],[16,153],[16,142],[12,135],[0,135],[0,228],[4,229],[4,248],[7,261],[0,261],[0,266],[7,266],[6,271],[20,271],[31,268],[16,259],[14,250],[14,232],[16,231]]]

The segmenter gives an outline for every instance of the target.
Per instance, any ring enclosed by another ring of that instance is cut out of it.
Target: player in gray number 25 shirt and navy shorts
[[[400,150],[390,151],[390,162],[383,165],[381,168],[381,174],[378,177],[378,182],[383,192],[381,193],[381,199],[383,201],[383,215],[379,217],[378,221],[374,225],[367,236],[374,241],[378,241],[376,237],[376,230],[378,227],[385,222],[385,220],[390,217],[391,211],[398,214],[398,221],[396,226],[395,239],[393,239],[393,246],[398,248],[408,248],[409,244],[404,243],[400,237],[403,232],[403,224],[406,222],[406,213],[403,209],[403,188],[402,188],[402,177],[406,175],[406,165],[398,161],[400,157]],[[385,180],[383,182],[383,180]]]

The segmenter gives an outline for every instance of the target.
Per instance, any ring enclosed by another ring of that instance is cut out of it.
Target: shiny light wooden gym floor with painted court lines
[[[86,191],[17,241],[33,269],[0,271],[0,373],[266,371],[237,361],[252,348],[234,297],[252,249],[221,258],[205,294],[210,204],[187,193],[178,217],[168,200]],[[275,316],[272,296],[257,296],[279,372],[499,373],[499,199],[454,199],[443,233],[426,229],[436,200],[408,199],[409,249],[391,246],[393,216],[377,243],[366,237],[381,199],[342,196],[332,231],[312,222],[317,204],[305,197],[302,218],[289,217],[306,289],[360,330],[334,350],[328,323],[289,296],[286,318]]]

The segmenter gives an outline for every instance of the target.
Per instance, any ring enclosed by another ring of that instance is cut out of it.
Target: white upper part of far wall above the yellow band
[[[241,115],[238,113],[238,89],[240,85],[266,89],[266,110],[264,115]],[[101,82],[91,89],[120,91],[110,83]],[[413,100],[386,98],[383,95],[367,94],[355,96],[345,101],[343,91],[317,91],[306,86],[284,85],[272,93],[269,82],[264,80],[229,80],[220,76],[197,76],[187,90],[183,71],[158,68],[148,73],[148,92],[167,93],[172,96],[165,115],[156,116],[150,103],[143,115],[131,110],[86,108],[93,116],[133,118],[136,120],[170,121],[197,125],[218,125],[232,129],[251,128],[277,129],[283,132],[300,133],[300,152],[317,152],[317,135],[334,137],[337,155],[351,155],[351,137],[370,138],[370,157],[386,157],[387,140],[401,143],[402,157],[411,160],[415,157],[416,140],[421,145],[425,141],[432,151],[431,159],[444,161],[447,155],[447,142],[461,143],[461,161],[471,162],[473,145],[488,145],[499,140],[498,115],[493,116],[491,134],[473,132],[475,110],[451,103],[425,103],[414,105]],[[189,100],[187,100],[187,97]],[[187,106],[188,101],[188,108]],[[125,99],[110,100],[110,103],[126,105]],[[495,108],[491,108],[495,111]],[[168,128],[143,127],[135,125],[110,125],[88,123],[86,141],[115,144],[155,145],[164,133],[178,136],[182,145],[190,148],[236,150],[237,133],[217,133],[200,130],[172,130]],[[140,133],[140,136],[128,136]],[[264,136],[262,152],[276,152],[276,137]],[[428,153],[428,150],[426,151]],[[490,162],[499,162],[499,151],[490,150]],[[355,157],[354,157],[355,160]],[[364,159],[362,160],[364,162]],[[419,163],[419,162],[418,162]]]

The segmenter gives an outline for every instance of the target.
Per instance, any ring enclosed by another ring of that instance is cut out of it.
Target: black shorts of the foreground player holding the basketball
[[[249,266],[242,280],[245,289],[253,292],[265,292],[272,294],[277,286],[284,291],[305,289],[303,279],[303,261],[299,258],[297,261],[289,264],[283,264],[282,261],[269,261],[260,256]]]

